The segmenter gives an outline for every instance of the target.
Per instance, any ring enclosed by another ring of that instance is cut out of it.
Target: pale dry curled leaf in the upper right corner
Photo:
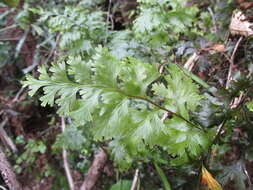
[[[229,30],[232,35],[250,36],[253,34],[252,26],[253,23],[247,21],[245,15],[239,11],[233,14]]]

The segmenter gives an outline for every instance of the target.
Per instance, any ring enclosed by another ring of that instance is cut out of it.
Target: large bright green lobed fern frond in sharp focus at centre
[[[171,65],[170,73],[164,76],[166,83],[156,82],[161,76],[155,66],[131,57],[119,61],[106,49],[96,51],[88,63],[69,57],[66,63],[52,65],[50,73],[42,66],[39,80],[27,76],[24,85],[30,95],[43,89],[43,106],[55,102],[59,114],[72,117],[78,124],[92,122],[94,138],[112,140],[118,162],[127,158],[125,153],[131,160],[147,145],[159,145],[178,156],[174,164],[182,164],[188,156],[197,157],[208,147],[208,133],[189,120],[189,112],[202,98],[190,78]],[[158,98],[164,100],[162,105]],[[163,123],[167,110],[175,115]],[[126,150],[115,147],[113,141],[119,141]]]

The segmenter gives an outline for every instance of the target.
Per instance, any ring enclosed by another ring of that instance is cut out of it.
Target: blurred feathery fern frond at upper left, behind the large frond
[[[91,11],[83,6],[67,6],[52,12],[40,10],[41,21],[47,21],[52,33],[59,33],[59,46],[70,53],[87,52],[107,37],[107,24],[102,11]]]

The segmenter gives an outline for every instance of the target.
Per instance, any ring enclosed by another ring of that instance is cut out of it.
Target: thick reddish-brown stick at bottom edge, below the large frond
[[[95,156],[93,163],[88,171],[88,174],[80,188],[80,190],[92,190],[101,175],[101,172],[108,159],[105,150],[101,149]]]

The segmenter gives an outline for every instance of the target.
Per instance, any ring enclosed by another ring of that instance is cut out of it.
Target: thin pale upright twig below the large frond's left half
[[[62,129],[62,132],[65,131],[65,120],[63,117],[61,117],[61,129]],[[70,167],[69,167],[69,163],[68,163],[68,153],[64,147],[62,148],[62,158],[63,158],[63,165],[64,165],[65,173],[66,173],[67,180],[69,183],[69,188],[70,188],[70,190],[75,190],[74,181],[71,176],[71,171],[70,171]]]

